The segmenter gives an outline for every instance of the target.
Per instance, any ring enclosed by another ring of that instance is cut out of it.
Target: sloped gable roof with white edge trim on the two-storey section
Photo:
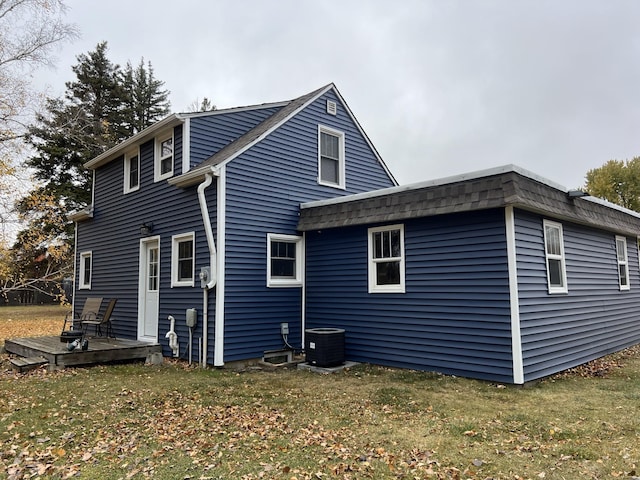
[[[354,121],[358,130],[361,132],[362,136],[364,137],[365,141],[371,147],[371,150],[376,156],[378,162],[382,165],[385,172],[389,175],[389,178],[391,178],[393,182],[397,184],[397,181],[391,174],[391,171],[388,169],[388,167],[386,166],[386,164],[378,154],[377,150],[369,140],[369,137],[367,137],[366,133],[364,132],[364,130],[362,129],[362,127],[354,117],[353,113],[351,112],[346,102],[338,92],[338,89],[333,83],[325,85],[324,87],[318,88],[313,92],[307,93],[301,97],[298,97],[289,101],[283,108],[278,110],[269,118],[262,121],[262,123],[258,124],[257,126],[255,126],[251,130],[246,132],[244,135],[238,137],[233,142],[231,142],[227,146],[220,149],[218,152],[216,152],[214,155],[206,159],[200,165],[194,167],[190,171],[180,176],[170,178],[168,182],[172,185],[176,185],[179,187],[188,187],[190,185],[195,185],[196,183],[202,182],[204,180],[205,174],[207,172],[210,172],[212,167],[230,162],[231,160],[236,158],[238,155],[240,155],[241,153],[245,152],[246,150],[254,146],[256,143],[263,140],[270,133],[272,133],[274,130],[276,130],[278,127],[280,127],[282,124],[284,124],[286,121],[288,121],[290,118],[292,118],[294,115],[299,113],[301,110],[303,110],[305,107],[307,107],[316,99],[324,95],[329,90],[333,90],[334,93],[338,96],[342,105],[345,107],[345,110],[347,111],[348,115]]]

